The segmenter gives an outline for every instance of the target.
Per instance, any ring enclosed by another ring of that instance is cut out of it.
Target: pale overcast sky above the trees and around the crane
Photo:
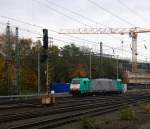
[[[59,47],[75,43],[98,52],[99,42],[103,42],[104,53],[131,59],[129,35],[60,35],[57,32],[79,27],[149,29],[149,7],[149,0],[0,0],[0,23],[9,21],[12,31],[15,31],[13,27],[19,27],[20,37],[33,40],[41,37],[42,28],[48,28],[53,44]],[[0,24],[0,32],[5,27]],[[139,34],[138,60],[150,61],[149,51],[150,33]]]

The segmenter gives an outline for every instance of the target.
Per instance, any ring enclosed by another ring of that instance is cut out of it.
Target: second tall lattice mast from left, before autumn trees
[[[20,44],[18,39],[18,27],[16,27],[16,45],[15,45],[15,59],[16,59],[16,88],[17,94],[21,94],[21,84],[20,84]]]

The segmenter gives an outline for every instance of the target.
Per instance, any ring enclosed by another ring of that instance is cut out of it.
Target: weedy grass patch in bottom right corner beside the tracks
[[[137,110],[138,109],[138,110]],[[120,110],[117,118],[115,120],[108,118],[96,118],[84,117],[81,119],[79,129],[138,129],[145,121],[149,115],[139,113],[138,111],[144,113],[150,113],[150,103],[140,102],[138,106],[134,107],[132,105],[124,105]],[[141,116],[142,115],[142,116]]]

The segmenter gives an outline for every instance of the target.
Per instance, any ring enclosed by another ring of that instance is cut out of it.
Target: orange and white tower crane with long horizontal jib
[[[132,72],[137,72],[137,36],[138,33],[147,33],[150,29],[144,28],[78,28],[61,29],[59,34],[129,34],[132,38]]]

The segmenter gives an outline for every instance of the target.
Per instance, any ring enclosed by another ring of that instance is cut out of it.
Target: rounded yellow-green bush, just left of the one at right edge
[[[121,120],[133,120],[135,118],[135,111],[132,106],[124,106],[120,110]]]

